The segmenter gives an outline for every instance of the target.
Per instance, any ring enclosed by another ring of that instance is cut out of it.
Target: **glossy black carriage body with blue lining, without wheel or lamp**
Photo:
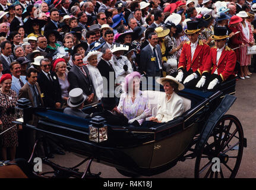
[[[89,141],[90,119],[65,115],[50,109],[33,109],[39,116],[37,126],[23,124],[42,131],[65,150],[80,157],[93,157],[94,161],[143,176],[156,175],[170,169],[192,145],[197,143],[211,113],[219,106],[223,93],[202,93],[183,90],[179,94],[191,100],[191,109],[182,116],[157,128],[134,128],[108,125],[108,140],[102,143]],[[101,106],[87,107],[86,113]],[[26,112],[27,113],[27,112]],[[195,157],[195,155],[191,155]]]

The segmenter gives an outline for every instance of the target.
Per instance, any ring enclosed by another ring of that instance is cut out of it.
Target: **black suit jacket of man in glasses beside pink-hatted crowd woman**
[[[53,82],[43,72],[40,72],[37,77],[37,82],[43,93],[43,103],[46,107],[55,107],[55,103],[61,103],[61,85],[55,72],[50,71],[50,76]]]

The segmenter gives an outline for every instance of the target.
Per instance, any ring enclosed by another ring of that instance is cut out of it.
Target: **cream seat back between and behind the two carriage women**
[[[165,94],[165,92],[153,91],[153,90],[143,91],[143,95],[147,96],[148,101],[150,103],[152,116],[156,116],[157,103],[159,102],[159,97],[162,94]],[[182,97],[182,96],[181,96],[181,99],[183,100],[183,103],[184,103],[184,112],[186,112],[191,108],[191,100],[186,99],[185,97]]]

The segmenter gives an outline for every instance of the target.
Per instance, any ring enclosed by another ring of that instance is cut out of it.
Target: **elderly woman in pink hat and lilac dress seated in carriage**
[[[145,119],[150,116],[150,104],[140,91],[139,72],[135,71],[125,77],[124,90],[121,94],[118,110],[129,119],[129,124],[140,126]]]

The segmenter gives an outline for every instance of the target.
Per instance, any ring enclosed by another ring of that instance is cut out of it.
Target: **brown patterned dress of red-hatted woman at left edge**
[[[2,131],[10,128],[14,124],[12,121],[15,119],[14,107],[16,106],[18,96],[14,90],[10,90],[9,93],[4,94],[0,90],[0,118],[2,121]],[[4,132],[0,137],[2,141],[2,147],[17,147],[18,146],[18,129],[15,126],[9,131]]]

